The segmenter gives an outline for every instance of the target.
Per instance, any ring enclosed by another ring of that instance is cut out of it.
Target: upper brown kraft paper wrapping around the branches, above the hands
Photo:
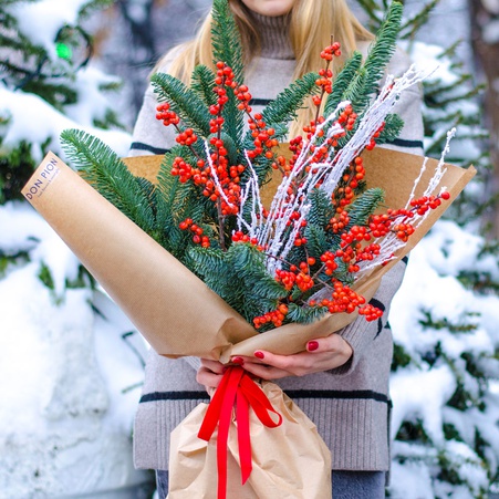
[[[419,176],[423,158],[377,148],[364,156],[366,181],[386,191],[386,206],[404,207]],[[163,156],[125,158],[127,167],[154,180]],[[438,162],[429,159],[416,196]],[[432,210],[395,260],[360,282],[370,300],[383,274],[423,238],[475,175],[475,168],[447,165],[440,183],[450,200]],[[439,187],[437,187],[437,191]],[[267,188],[267,200],[272,185]],[[196,355],[228,362],[256,350],[291,354],[308,340],[331,334],[355,319],[332,314],[313,324],[287,324],[258,334],[245,319],[117,208],[50,153],[22,190],[76,257],[128,315],[157,353]]]

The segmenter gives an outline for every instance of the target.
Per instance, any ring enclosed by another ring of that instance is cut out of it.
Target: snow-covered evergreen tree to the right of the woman
[[[376,27],[384,0],[358,2]],[[389,322],[393,474],[389,497],[486,498],[499,458],[499,252],[480,235],[485,170],[479,89],[456,45],[417,41],[438,0],[407,17],[401,42],[414,62],[438,69],[424,84],[425,147],[439,155],[447,131],[457,136],[449,163],[475,164],[478,178],[413,250]]]

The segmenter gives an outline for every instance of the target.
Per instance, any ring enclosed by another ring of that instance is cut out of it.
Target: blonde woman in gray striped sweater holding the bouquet
[[[308,71],[322,66],[320,52],[331,33],[349,55],[366,53],[373,39],[353,17],[345,0],[229,0],[236,15],[246,62],[246,84],[256,112]],[[188,82],[195,64],[211,63],[210,17],[197,38],[174,49],[157,70]],[[340,61],[341,63],[341,61]],[[397,52],[388,72],[402,74],[408,64]],[[149,89],[134,132],[132,155],[160,154],[173,145],[174,133],[155,119],[157,102]],[[395,112],[405,127],[389,147],[420,154],[423,126],[418,89],[407,91]],[[303,110],[290,135],[310,122],[312,106]],[[332,451],[334,498],[382,498],[389,468],[388,375],[392,333],[387,324],[391,300],[398,289],[405,262],[383,279],[373,301],[384,309],[383,320],[357,319],[328,337],[310,341],[295,355],[254,352],[233,361],[280,386],[316,424]],[[197,358],[170,361],[150,352],[135,423],[135,464],[157,470],[159,497],[167,493],[169,433],[220,382],[223,366]],[[197,371],[197,373],[196,373]],[[196,381],[197,380],[197,381]]]

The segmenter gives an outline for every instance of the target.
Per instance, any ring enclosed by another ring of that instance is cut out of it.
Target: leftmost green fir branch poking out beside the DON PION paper
[[[135,177],[119,157],[97,137],[83,131],[66,129],[62,146],[73,165],[108,201],[154,237],[154,215],[149,200],[137,189]]]

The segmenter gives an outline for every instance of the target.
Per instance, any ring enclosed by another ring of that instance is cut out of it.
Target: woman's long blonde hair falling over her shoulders
[[[245,63],[248,64],[253,56],[258,55],[259,33],[241,0],[229,0],[229,7],[241,34]],[[344,61],[356,49],[357,42],[374,39],[349,9],[346,0],[295,0],[289,15],[290,42],[297,61],[293,79],[323,66],[320,53],[331,44],[331,38],[342,45],[342,56],[333,61],[333,72],[341,69]],[[155,70],[170,62],[168,72],[188,84],[197,64],[214,69],[211,22],[211,13],[209,13],[196,38],[167,53]],[[299,113],[297,123],[292,124],[290,134],[293,136],[300,133],[313,115],[314,106],[310,100],[308,106]]]

